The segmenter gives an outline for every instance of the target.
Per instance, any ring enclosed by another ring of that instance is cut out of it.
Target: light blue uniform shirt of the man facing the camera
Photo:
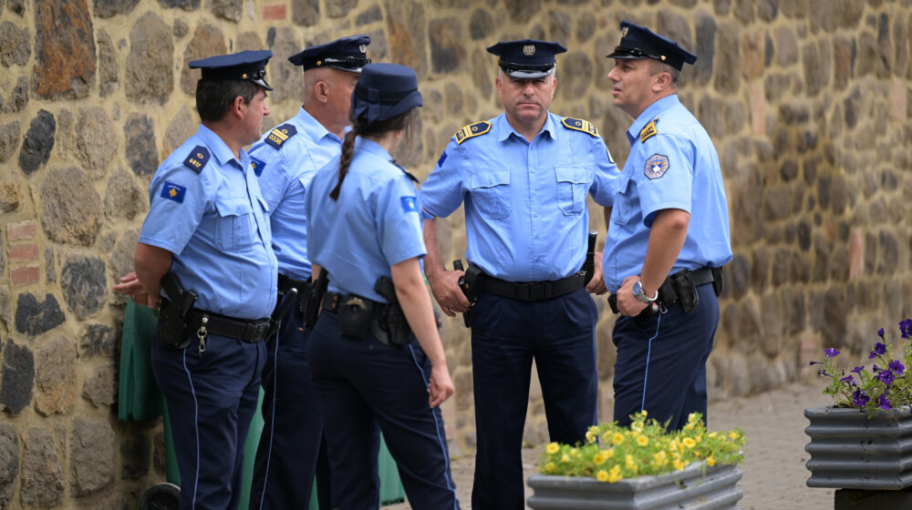
[[[601,137],[561,120],[548,113],[529,143],[502,113],[486,134],[462,143],[454,136],[421,185],[430,217],[450,216],[465,202],[466,258],[486,274],[560,280],[586,260],[586,195],[610,206],[619,172]]]

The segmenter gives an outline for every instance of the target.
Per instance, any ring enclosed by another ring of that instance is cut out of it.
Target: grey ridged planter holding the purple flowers
[[[877,411],[814,407],[804,433],[811,443],[809,487],[900,490],[912,486],[912,410]]]

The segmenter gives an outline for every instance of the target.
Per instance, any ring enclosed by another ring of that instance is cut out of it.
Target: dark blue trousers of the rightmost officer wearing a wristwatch
[[[661,423],[670,420],[669,430],[686,425],[689,413],[706,419],[706,359],[719,325],[719,301],[712,285],[697,291],[700,304],[689,313],[676,303],[661,315],[640,313],[615,322],[617,423],[629,424],[640,409]]]

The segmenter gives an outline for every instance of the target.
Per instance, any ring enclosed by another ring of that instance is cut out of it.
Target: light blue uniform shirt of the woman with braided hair
[[[385,148],[358,137],[333,200],[329,192],[338,182],[338,160],[317,170],[307,189],[307,251],[329,271],[330,291],[387,302],[374,291],[377,279],[391,276],[391,266],[427,253],[415,184]]]

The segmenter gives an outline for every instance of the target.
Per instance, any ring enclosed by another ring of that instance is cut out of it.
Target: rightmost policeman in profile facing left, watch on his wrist
[[[646,409],[679,429],[689,413],[706,415],[720,268],[731,260],[728,206],[712,140],[678,99],[681,67],[697,56],[643,26],[620,26],[608,78],[634,122],[603,260],[623,315],[612,334],[615,420]]]

